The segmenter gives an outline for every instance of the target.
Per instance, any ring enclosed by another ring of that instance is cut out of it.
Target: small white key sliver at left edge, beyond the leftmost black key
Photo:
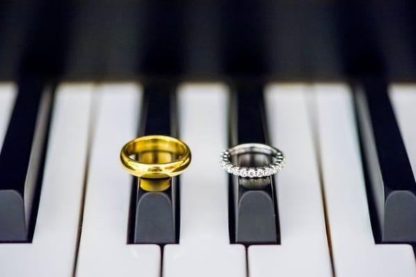
[[[0,151],[17,94],[13,83],[0,83]]]

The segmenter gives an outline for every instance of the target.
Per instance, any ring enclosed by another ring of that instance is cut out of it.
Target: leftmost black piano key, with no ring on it
[[[22,81],[0,153],[0,241],[30,242],[35,228],[53,91]]]

